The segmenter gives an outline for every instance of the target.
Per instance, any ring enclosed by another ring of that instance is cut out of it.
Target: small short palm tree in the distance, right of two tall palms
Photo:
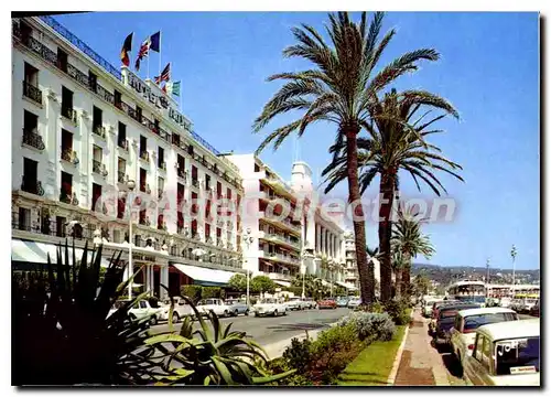
[[[392,230],[392,246],[395,251],[399,251],[402,256],[402,290],[409,293],[411,259],[418,255],[430,259],[434,254],[434,247],[431,244],[429,236],[421,233],[421,222],[415,219],[415,215],[402,214],[396,223]],[[398,285],[398,277],[397,277]]]

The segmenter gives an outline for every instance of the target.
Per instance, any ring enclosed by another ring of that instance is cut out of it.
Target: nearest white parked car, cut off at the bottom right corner
[[[478,328],[463,369],[474,386],[540,386],[540,320]]]

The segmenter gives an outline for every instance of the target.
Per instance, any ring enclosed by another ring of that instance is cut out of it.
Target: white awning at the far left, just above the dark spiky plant
[[[73,264],[73,247],[68,247],[69,264]],[[84,249],[75,248],[75,257],[77,261],[83,258]],[[30,240],[12,239],[11,240],[11,260],[32,264],[47,264],[47,255],[50,261],[57,262],[57,246],[55,244],[36,243]],[[88,249],[88,264],[91,261],[93,250]],[[62,246],[62,257],[65,261],[65,247]],[[101,267],[108,267],[109,259],[101,258]]]

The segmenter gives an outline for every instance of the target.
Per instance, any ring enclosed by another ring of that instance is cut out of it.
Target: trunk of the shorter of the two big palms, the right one
[[[383,303],[392,299],[392,253],[390,251],[392,223],[390,222],[390,213],[395,198],[395,180],[396,174],[385,171],[381,173],[379,185],[379,197],[381,198],[379,203],[380,297]]]

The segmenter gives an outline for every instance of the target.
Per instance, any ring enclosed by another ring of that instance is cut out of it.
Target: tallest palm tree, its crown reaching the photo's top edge
[[[346,144],[348,201],[357,204],[361,197],[356,139],[369,120],[369,104],[392,81],[417,69],[418,61],[435,61],[439,54],[430,49],[418,50],[379,68],[381,54],[396,33],[390,30],[379,40],[383,13],[376,12],[369,26],[365,12],[359,23],[352,21],[346,12],[329,14],[328,18],[326,32],[331,44],[310,25],[292,29],[298,43],[287,47],[283,56],[303,58],[312,63],[313,67],[269,77],[268,81],[287,83],[264,105],[252,127],[255,132],[259,132],[279,115],[290,111],[301,114],[294,121],[268,135],[257,149],[259,153],[268,144],[273,144],[277,150],[292,133],[302,137],[306,127],[316,121],[336,125],[335,142]],[[360,205],[356,206],[355,215],[354,235],[361,299],[369,303],[374,298],[375,279],[372,268],[367,267],[365,218]]]

